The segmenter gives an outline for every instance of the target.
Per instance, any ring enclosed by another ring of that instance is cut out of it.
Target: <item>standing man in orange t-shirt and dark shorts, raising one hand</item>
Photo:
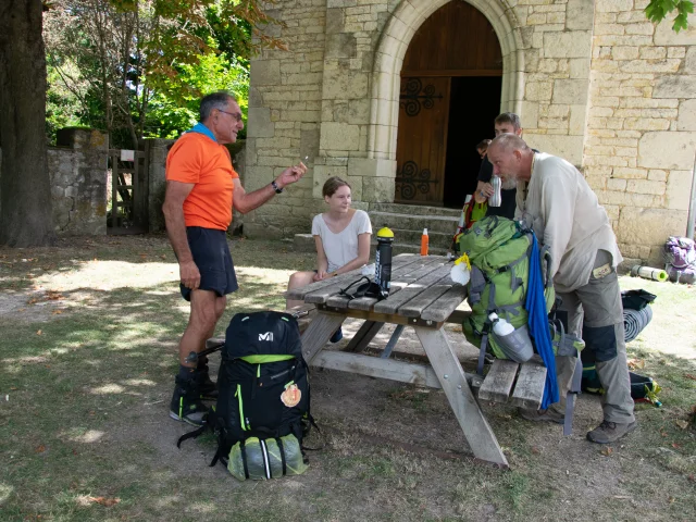
[[[200,123],[182,136],[166,157],[162,211],[178,260],[182,296],[191,307],[188,326],[178,345],[181,366],[170,417],[194,425],[202,425],[208,411],[201,397],[214,399],[216,388],[208,374],[207,358],[200,357],[197,364],[186,358],[204,348],[225,310],[225,296],[237,289],[226,237],[233,200],[234,207],[245,214],[307,172],[300,162],[265,187],[247,194],[225,147],[236,141],[243,128],[236,99],[228,92],[213,92],[200,102]]]

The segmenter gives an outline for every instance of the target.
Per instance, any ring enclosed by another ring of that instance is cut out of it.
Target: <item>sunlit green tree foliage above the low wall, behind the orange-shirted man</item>
[[[213,90],[234,91],[244,109],[249,57],[260,47],[283,47],[258,32],[273,20],[256,1],[55,0],[51,7],[45,39],[58,74],[49,98],[54,89],[70,91],[82,105],[79,123],[109,133],[114,147],[178,135],[197,120],[201,95]]]

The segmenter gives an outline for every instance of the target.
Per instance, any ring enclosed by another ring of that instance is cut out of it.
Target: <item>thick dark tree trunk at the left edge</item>
[[[40,0],[0,2],[0,244],[54,241]]]

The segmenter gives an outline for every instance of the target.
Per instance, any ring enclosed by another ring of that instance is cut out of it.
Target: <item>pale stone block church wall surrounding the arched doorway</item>
[[[626,257],[655,256],[668,229],[683,234],[696,150],[696,26],[679,35],[669,22],[656,27],[646,0],[468,1],[500,42],[500,111],[520,114],[531,146],[581,169]],[[285,23],[274,35],[288,51],[251,62],[246,186],[270,183],[304,157],[310,171],[245,216],[246,233],[309,232],[332,175],[352,185],[360,204],[393,201],[401,62],[445,3],[273,4]]]

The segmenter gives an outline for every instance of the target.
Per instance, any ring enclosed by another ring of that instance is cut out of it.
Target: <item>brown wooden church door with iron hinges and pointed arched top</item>
[[[462,76],[501,77],[502,57],[486,17],[469,3],[451,1],[418,29],[403,59],[396,202],[443,204],[449,129],[471,124],[460,114],[450,117],[452,78]],[[476,95],[463,96],[476,103]],[[483,124],[493,129],[493,121]]]

